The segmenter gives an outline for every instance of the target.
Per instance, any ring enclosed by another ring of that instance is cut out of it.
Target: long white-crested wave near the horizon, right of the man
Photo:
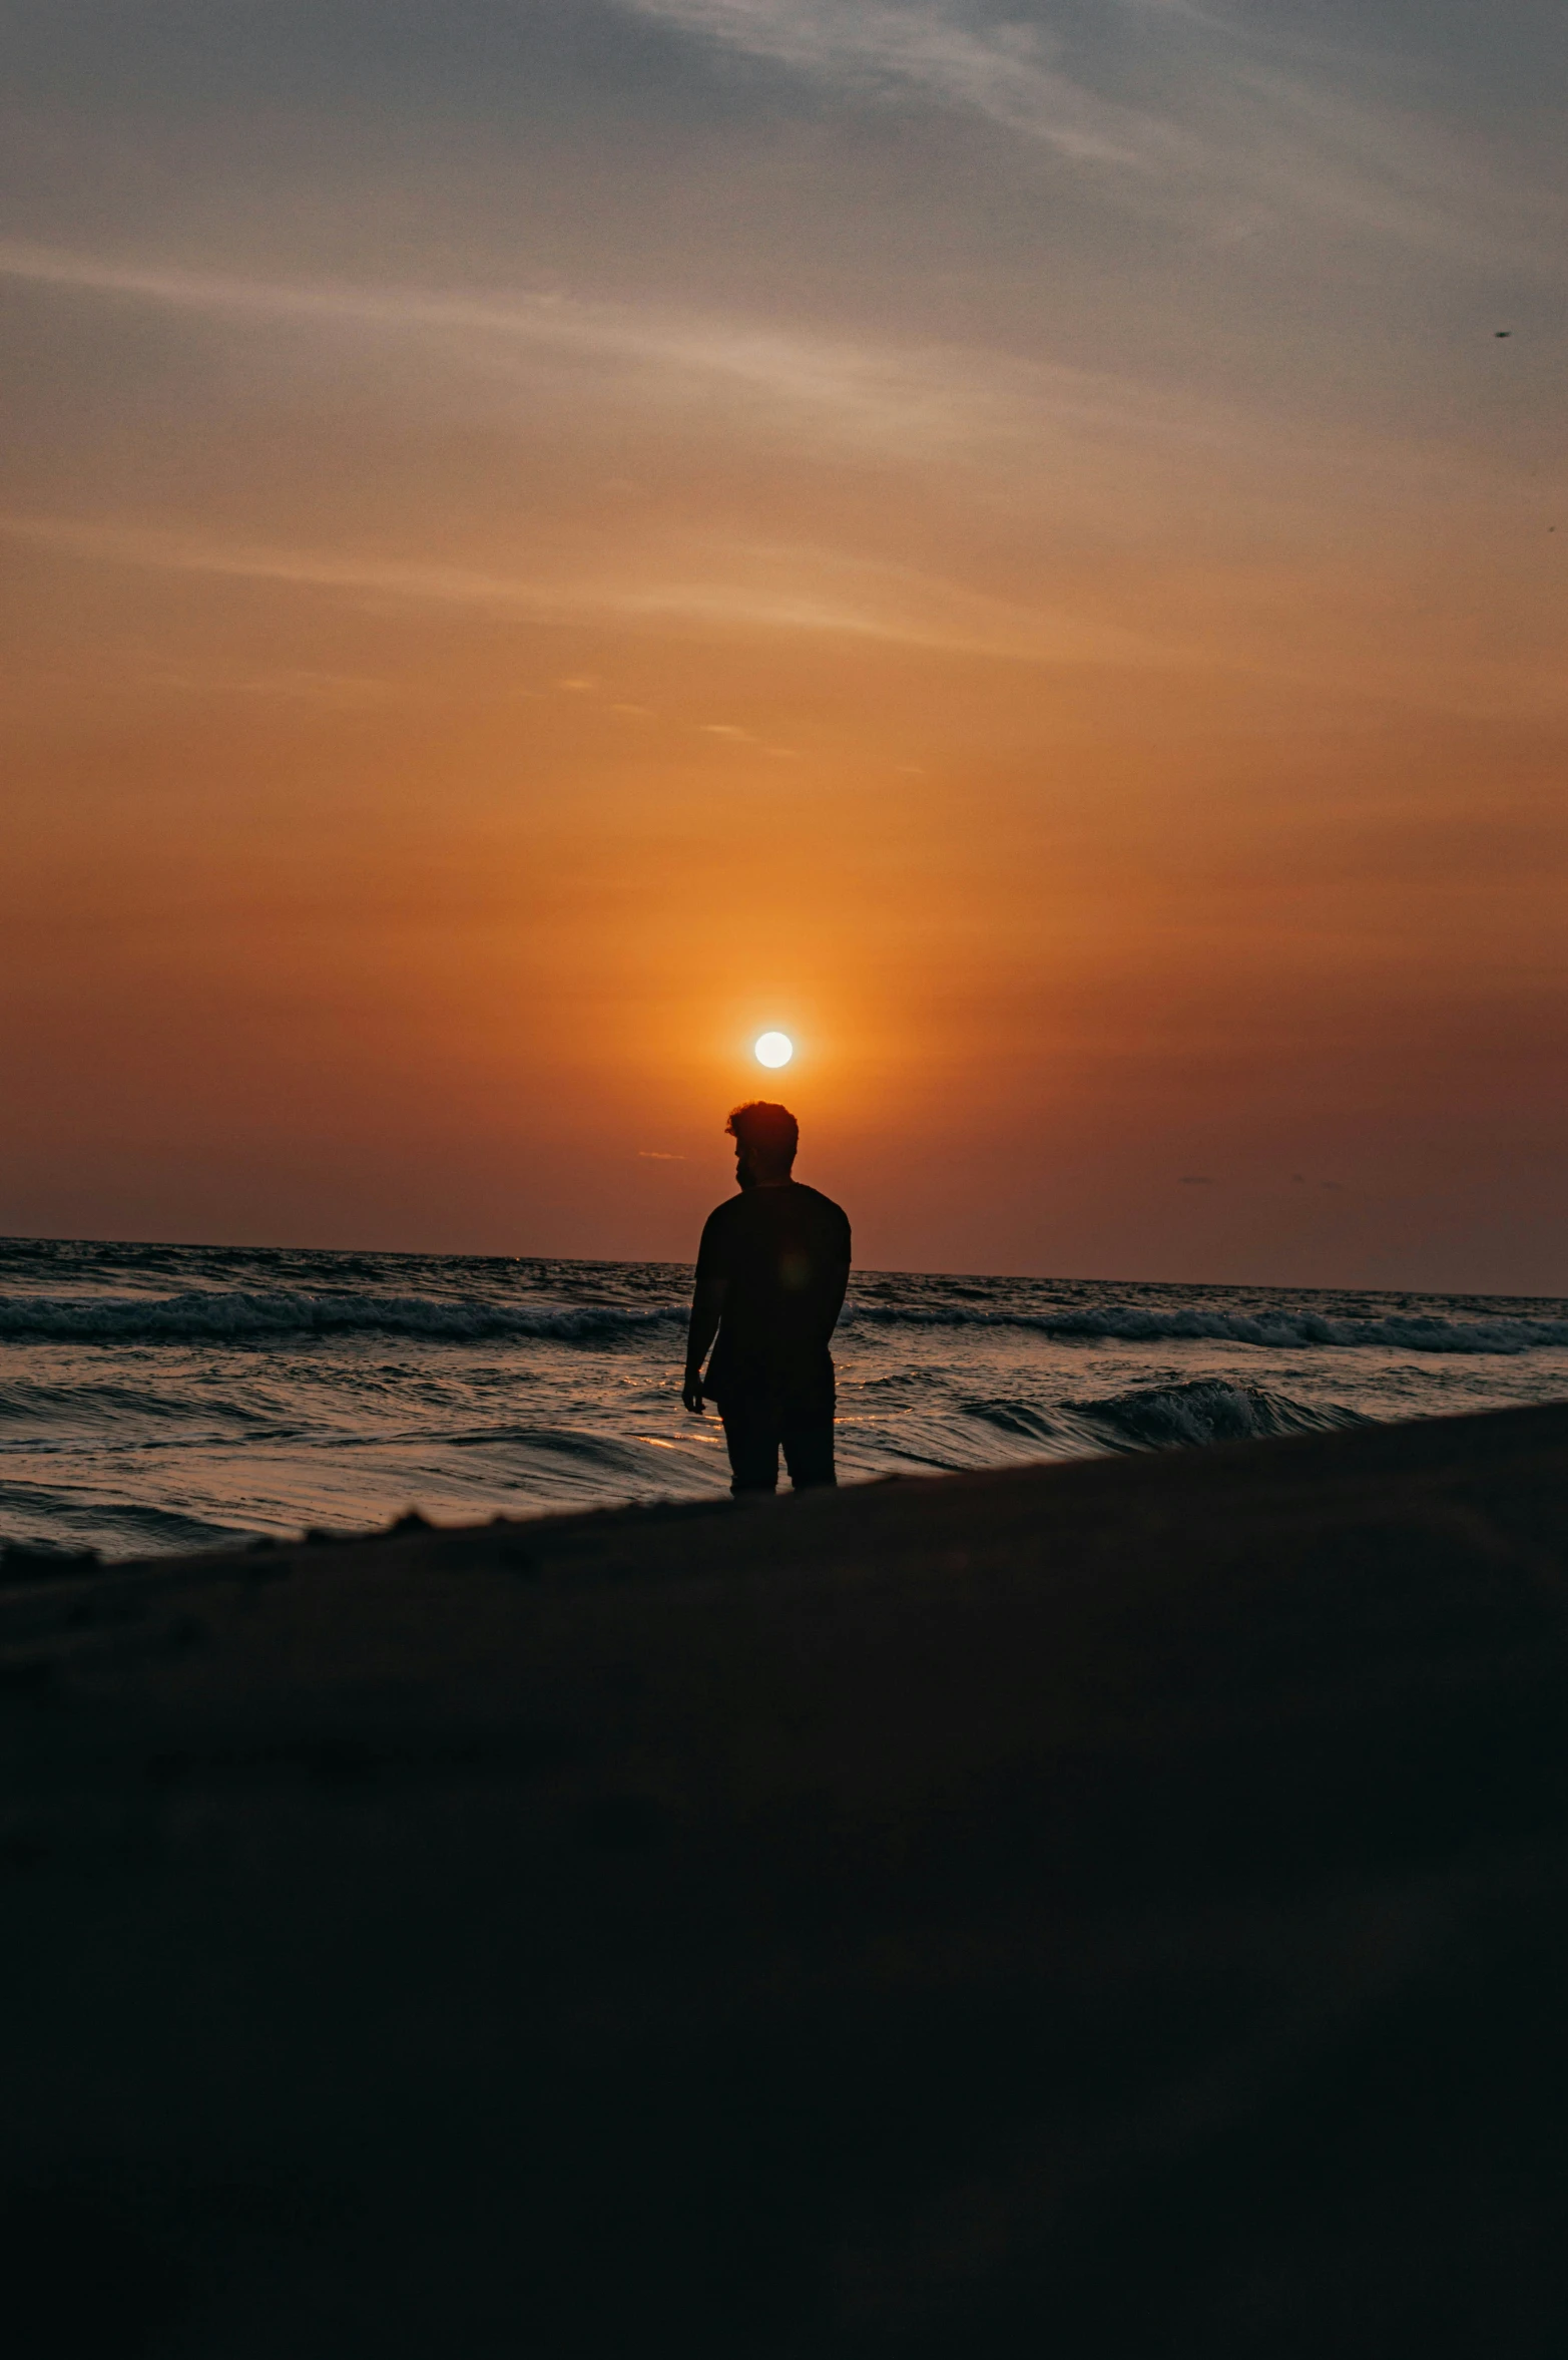
[[[971,1305],[915,1307],[858,1303],[849,1319],[875,1326],[936,1329],[1035,1329],[1040,1336],[1108,1338],[1115,1343],[1252,1343],[1266,1350],[1337,1345],[1396,1352],[1537,1352],[1568,1345],[1568,1319],[1438,1319],[1422,1312],[1386,1312],[1377,1319],[1335,1319],[1327,1312],[1160,1312],[1139,1303],[1106,1303],[1099,1310],[979,1310]]]

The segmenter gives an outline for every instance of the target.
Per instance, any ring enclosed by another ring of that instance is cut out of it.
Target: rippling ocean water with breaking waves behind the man
[[[0,1241],[0,1541],[111,1558],[698,1499],[691,1270]],[[856,1272],[844,1480],[1568,1397],[1568,1303]]]

